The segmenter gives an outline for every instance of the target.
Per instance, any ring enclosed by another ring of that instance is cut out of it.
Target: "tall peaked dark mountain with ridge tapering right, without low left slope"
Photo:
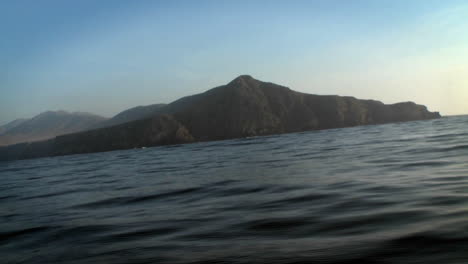
[[[412,102],[385,105],[353,97],[320,96],[243,75],[227,85],[163,109],[197,140],[299,132],[440,117]]]

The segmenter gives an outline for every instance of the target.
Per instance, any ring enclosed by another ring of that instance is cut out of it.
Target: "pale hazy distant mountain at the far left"
[[[31,119],[13,121],[15,124],[0,134],[0,145],[44,140],[58,135],[83,131],[104,120],[106,120],[104,117],[88,113],[48,111]]]

